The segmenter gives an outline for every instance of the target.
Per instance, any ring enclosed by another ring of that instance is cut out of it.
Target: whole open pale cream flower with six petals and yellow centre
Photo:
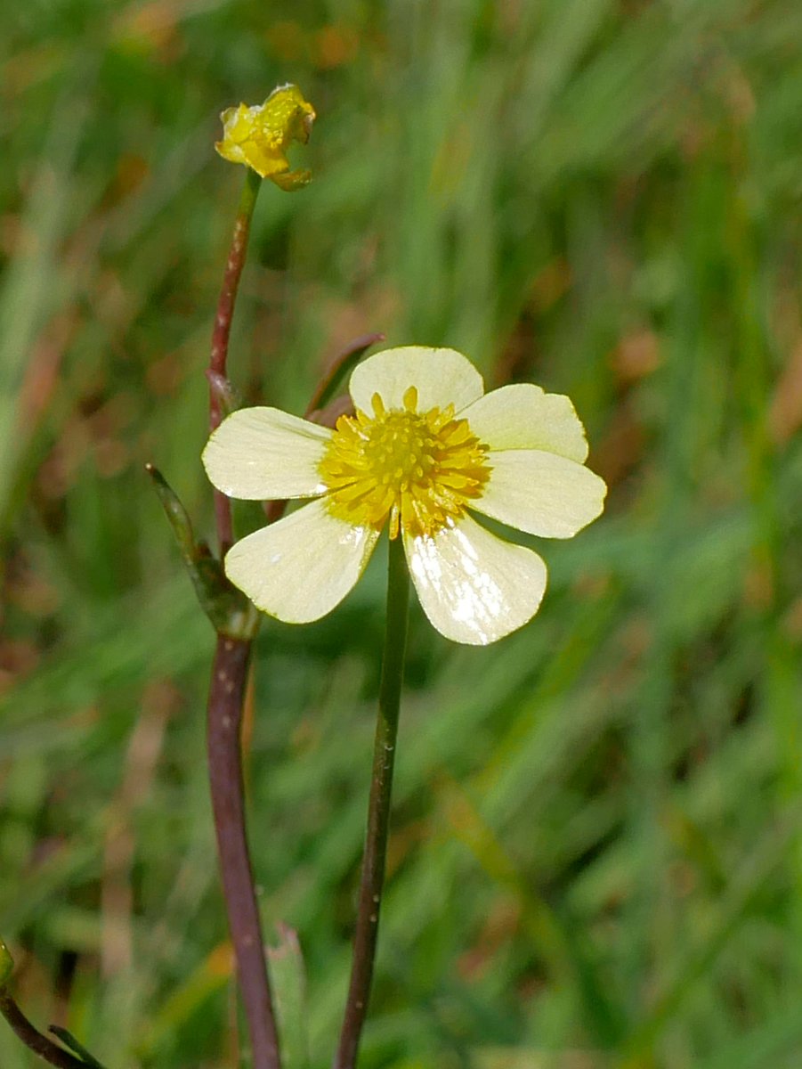
[[[446,638],[484,645],[520,628],[540,604],[546,564],[470,512],[547,538],[571,538],[600,514],[607,487],[584,466],[568,398],[531,384],[486,394],[460,353],[418,346],[368,357],[349,389],[356,415],[333,431],[242,408],[209,438],[206,471],[230,497],[316,498],[237,542],[225,558],[232,583],[280,620],[317,620],[356,584],[387,525]]]

